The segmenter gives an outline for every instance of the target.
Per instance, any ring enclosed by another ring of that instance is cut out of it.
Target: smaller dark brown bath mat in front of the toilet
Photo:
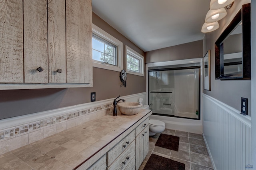
[[[178,136],[160,134],[158,140],[156,141],[155,146],[160,146],[162,148],[178,151],[179,141],[180,141],[180,137]]]

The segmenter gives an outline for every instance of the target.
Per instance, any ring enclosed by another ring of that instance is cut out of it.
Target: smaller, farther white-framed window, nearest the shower
[[[144,57],[132,48],[126,47],[126,72],[137,76],[144,76]]]

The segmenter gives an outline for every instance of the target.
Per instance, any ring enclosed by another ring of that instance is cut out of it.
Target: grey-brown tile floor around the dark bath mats
[[[160,133],[150,136],[149,152],[139,169],[142,170],[144,168],[151,154],[156,154],[184,163],[186,170],[213,170],[212,162],[202,135],[171,129],[165,129],[162,133],[180,137],[179,151],[155,146]]]

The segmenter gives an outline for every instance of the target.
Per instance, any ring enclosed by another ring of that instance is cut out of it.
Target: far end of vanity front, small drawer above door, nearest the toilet
[[[149,118],[136,128],[136,170],[140,168],[149,151]],[[138,134],[138,135],[137,135]]]

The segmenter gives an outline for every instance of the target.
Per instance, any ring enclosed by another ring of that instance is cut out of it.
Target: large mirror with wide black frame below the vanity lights
[[[250,8],[250,3],[242,5],[242,9],[215,42],[215,79],[251,77]]]

